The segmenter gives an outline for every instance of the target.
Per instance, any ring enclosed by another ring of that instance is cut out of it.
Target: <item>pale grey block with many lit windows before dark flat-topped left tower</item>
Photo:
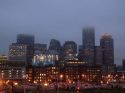
[[[9,63],[11,63],[9,65],[27,67],[27,65],[29,65],[27,48],[27,45],[12,43],[9,46],[8,60]]]

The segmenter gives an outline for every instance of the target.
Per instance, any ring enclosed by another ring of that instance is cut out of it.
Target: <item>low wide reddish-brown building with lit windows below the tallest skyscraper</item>
[[[101,67],[96,65],[87,65],[87,62],[70,60],[64,67],[63,75],[67,82],[100,82]]]

